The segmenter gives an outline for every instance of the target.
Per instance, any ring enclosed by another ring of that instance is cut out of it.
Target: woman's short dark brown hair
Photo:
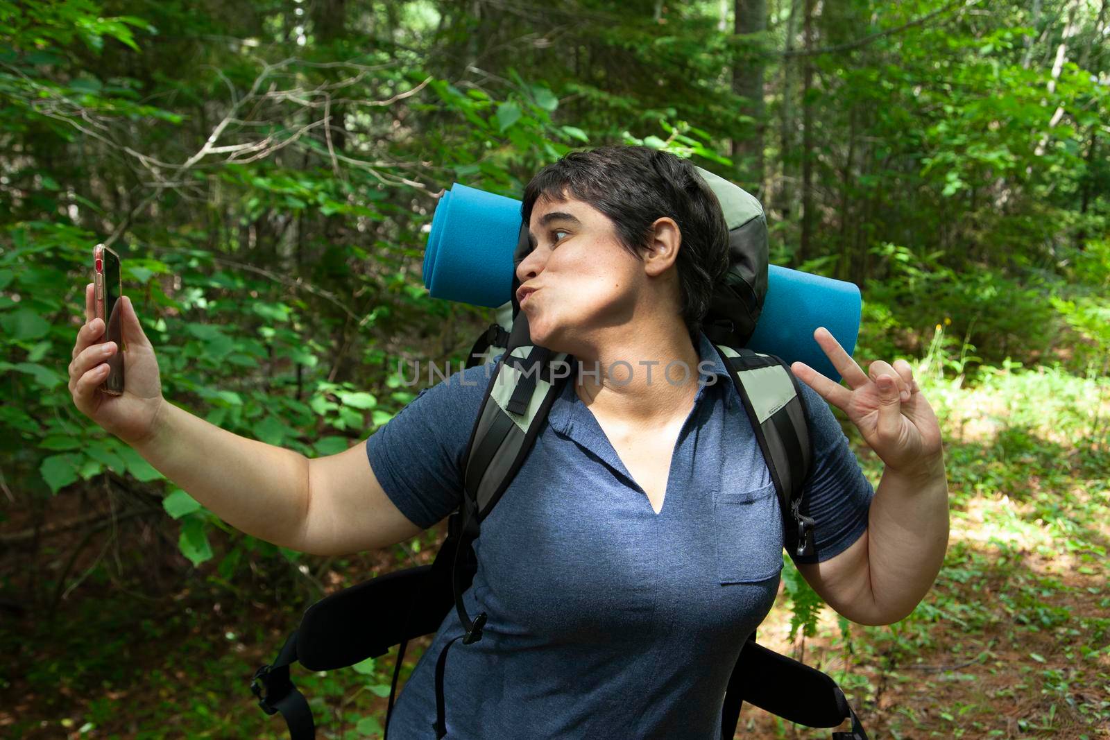
[[[728,226],[720,202],[694,165],[647,146],[571,152],[524,189],[524,223],[539,197],[564,201],[567,194],[608,216],[622,246],[637,259],[647,250],[655,220],[675,220],[683,235],[676,261],[679,305],[696,347],[714,286],[728,271]]]

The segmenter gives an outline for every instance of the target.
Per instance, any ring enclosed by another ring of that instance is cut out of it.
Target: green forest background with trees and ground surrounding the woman
[[[91,425],[65,368],[92,245],[123,256],[168,399],[329,455],[414,397],[398,361],[458,366],[492,318],[423,287],[433,195],[519,197],[567,151],[639,143],[757,195],[774,264],[859,285],[857,362],[908,359],[945,432],[952,536],[918,609],[850,625],[787,560],[760,640],[872,737],[1108,737],[1108,22],[1106,0],[0,0],[0,734],[282,738],[254,668],[445,534],[278,548]],[[320,737],[379,736],[392,666],[294,669]],[[828,734],[753,708],[739,730]]]

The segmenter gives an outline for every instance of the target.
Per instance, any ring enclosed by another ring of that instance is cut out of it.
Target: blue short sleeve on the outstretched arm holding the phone
[[[463,458],[490,369],[471,367],[424,388],[366,439],[366,457],[382,489],[418,527],[427,529],[462,501]]]

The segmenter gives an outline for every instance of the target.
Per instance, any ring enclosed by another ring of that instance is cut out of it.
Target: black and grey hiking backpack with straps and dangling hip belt
[[[796,555],[810,555],[814,527],[805,514],[805,485],[814,468],[806,407],[797,378],[781,358],[744,345],[755,331],[767,290],[767,227],[755,197],[731,183],[698,170],[716,193],[729,226],[729,270],[715,288],[703,332],[719,353],[743,401],[778,494],[784,531],[797,531]],[[514,259],[529,249],[522,224]],[[471,544],[482,521],[501,499],[543,430],[547,413],[567,374],[556,372],[573,362],[565,353],[533,345],[527,317],[516,302],[513,276],[512,323],[507,316],[488,327],[471,349],[467,367],[484,364],[501,349],[467,446],[462,503],[447,518],[447,537],[431,565],[389,572],[321,599],[305,610],[276,659],[260,667],[251,690],[266,714],[281,712],[292,740],[313,740],[312,712],[293,686],[289,667],[299,661],[310,670],[333,670],[385,655],[398,646],[385,737],[393,712],[397,677],[408,640],[438,630],[455,607],[464,633],[447,642],[436,661],[436,738],[446,734],[444,669],[457,640],[482,639],[486,614],[473,619],[462,595],[477,569]],[[507,306],[506,306],[507,308]],[[394,608],[382,609],[382,605]],[[851,730],[833,740],[867,740],[844,692],[825,673],[781,656],[748,637],[733,667],[723,698],[722,738],[736,732],[740,704],[747,701],[773,714],[807,727],[833,728],[845,719]]]

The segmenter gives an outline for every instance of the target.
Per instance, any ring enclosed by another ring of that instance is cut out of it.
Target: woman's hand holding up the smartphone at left
[[[104,322],[94,317],[92,283],[84,287],[84,325],[78,331],[70,363],[70,395],[82,414],[132,447],[150,438],[164,399],[154,347],[139,324],[131,298],[118,306],[123,324],[123,395],[112,396],[100,386],[108,377],[105,359],[120,348],[103,342]]]

